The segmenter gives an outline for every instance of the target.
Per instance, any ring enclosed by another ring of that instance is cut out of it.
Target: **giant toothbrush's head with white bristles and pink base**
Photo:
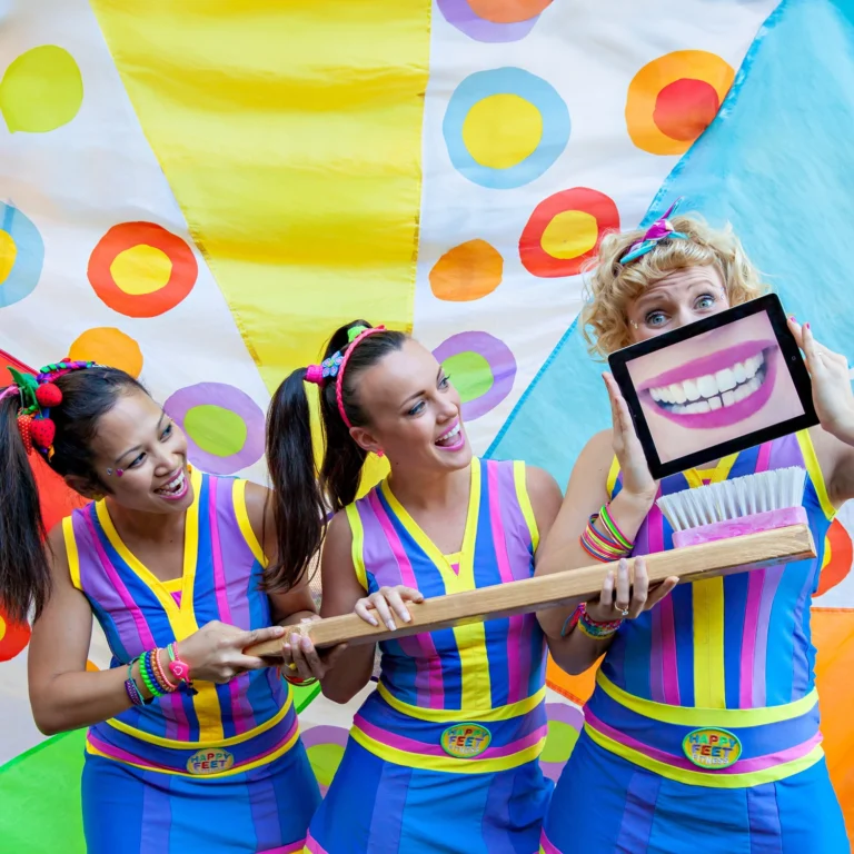
[[[806,470],[777,468],[665,495],[656,504],[673,528],[674,548],[807,524]]]

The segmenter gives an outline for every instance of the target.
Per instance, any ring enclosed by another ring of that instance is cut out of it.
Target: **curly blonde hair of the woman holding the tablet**
[[[715,229],[697,216],[671,217],[676,231],[688,240],[663,240],[652,251],[624,265],[619,259],[646,228],[606,235],[596,258],[587,266],[590,277],[582,310],[584,338],[589,354],[608,354],[632,342],[626,309],[651,285],[675,270],[713,266],[721,274],[731,306],[755,299],[767,290],[731,226]]]

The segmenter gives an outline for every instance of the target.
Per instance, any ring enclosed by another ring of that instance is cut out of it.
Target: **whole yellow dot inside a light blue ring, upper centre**
[[[509,169],[534,153],[543,137],[543,116],[518,95],[478,101],[463,122],[468,153],[488,169]]]

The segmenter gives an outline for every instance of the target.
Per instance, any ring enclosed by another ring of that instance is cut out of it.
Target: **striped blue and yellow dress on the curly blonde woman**
[[[669,494],[787,466],[816,559],[682,585],[623,624],[555,790],[540,851],[569,854],[845,854],[827,775],[810,599],[834,514],[807,433],[667,477]],[[612,469],[609,493],[620,489]],[[654,508],[634,554],[672,548]]]

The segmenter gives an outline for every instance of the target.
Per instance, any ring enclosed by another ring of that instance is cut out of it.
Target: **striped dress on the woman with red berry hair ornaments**
[[[266,564],[245,480],[192,473],[183,575],[158,580],[119,538],[103,502],[63,520],[73,585],[127,664],[214,619],[270,625]],[[89,854],[301,851],[320,794],[292,694],[274,668],[198,682],[89,729],[83,826]]]

